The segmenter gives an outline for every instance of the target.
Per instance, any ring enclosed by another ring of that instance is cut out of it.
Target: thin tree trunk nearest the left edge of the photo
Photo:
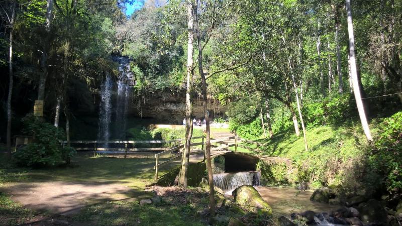
[[[7,97],[7,153],[8,157],[11,158],[11,121],[12,121],[12,114],[11,114],[11,97],[13,96],[13,30],[14,30],[14,20],[15,20],[15,8],[16,3],[12,3],[12,15],[10,21],[10,52],[9,52],[9,95]]]

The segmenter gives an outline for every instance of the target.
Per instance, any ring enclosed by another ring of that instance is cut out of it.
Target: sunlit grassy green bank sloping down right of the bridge
[[[376,124],[371,124],[372,134],[376,134]],[[283,157],[292,160],[293,175],[288,175],[296,182],[311,182],[313,188],[332,183],[345,183],[348,175],[355,176],[356,168],[362,164],[368,143],[359,124],[348,127],[322,126],[307,130],[309,151],[305,150],[303,135],[297,137],[288,132],[276,134],[273,138],[257,140],[261,155]],[[254,144],[244,144],[257,149]],[[233,148],[232,148],[233,149]],[[250,152],[238,148],[241,152]],[[252,152],[257,154],[256,152]]]

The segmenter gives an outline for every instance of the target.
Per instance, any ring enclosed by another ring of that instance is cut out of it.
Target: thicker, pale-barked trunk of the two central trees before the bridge
[[[188,43],[187,43],[187,89],[186,89],[186,107],[185,107],[185,144],[183,151],[183,158],[180,170],[179,185],[187,187],[187,171],[188,163],[190,160],[190,145],[192,137],[192,102],[191,102],[191,78],[192,78],[192,55],[193,55],[193,20],[194,20],[194,5],[192,2],[187,3],[187,29],[188,29]],[[207,119],[206,119],[207,120]]]

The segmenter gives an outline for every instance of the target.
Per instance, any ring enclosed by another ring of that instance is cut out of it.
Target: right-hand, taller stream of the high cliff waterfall
[[[133,72],[130,71],[130,60],[124,57],[114,57],[119,62],[119,76],[117,81],[117,104],[115,119],[115,137],[119,140],[126,139],[127,111],[131,100],[131,87]]]

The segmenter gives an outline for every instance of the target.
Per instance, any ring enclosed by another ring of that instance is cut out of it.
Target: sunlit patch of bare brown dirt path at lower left
[[[99,201],[139,198],[133,188],[114,182],[23,182],[8,186],[6,191],[27,208],[59,214],[72,213]]]

